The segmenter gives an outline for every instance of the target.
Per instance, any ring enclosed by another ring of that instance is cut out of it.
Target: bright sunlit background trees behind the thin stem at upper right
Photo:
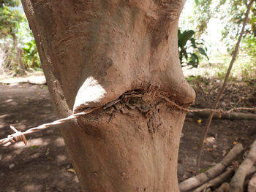
[[[247,3],[248,1],[238,0],[188,0],[187,9],[181,15],[181,29],[192,29],[196,32],[196,38],[203,38],[207,42],[209,62],[213,64],[212,66],[216,66],[215,74],[217,77],[225,77],[223,72],[226,71],[230,56],[233,55]],[[255,3],[252,5],[249,20],[246,23],[246,33],[241,41],[240,54],[234,65],[232,77],[236,76],[248,80],[256,74],[255,51],[254,46],[252,46],[255,42],[253,36],[254,7]]]

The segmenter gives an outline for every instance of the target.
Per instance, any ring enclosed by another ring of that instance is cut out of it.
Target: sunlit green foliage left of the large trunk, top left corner
[[[41,64],[34,37],[25,15],[18,11],[19,4],[20,1],[18,0],[0,2],[0,44],[1,46],[8,45],[8,50],[10,50],[4,67],[12,71],[18,71],[17,50],[22,50],[21,58],[25,69],[39,69]],[[12,43],[10,43],[11,40]]]

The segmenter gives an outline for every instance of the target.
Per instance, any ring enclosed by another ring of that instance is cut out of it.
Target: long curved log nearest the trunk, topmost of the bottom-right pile
[[[232,150],[230,150],[229,153],[227,153],[225,158],[223,158],[219,164],[215,165],[211,169],[208,169],[206,172],[197,174],[197,176],[191,177],[181,182],[179,184],[180,191],[182,192],[192,190],[193,188],[196,188],[199,185],[206,183],[208,180],[217,177],[217,175],[221,174],[227,168],[227,166],[230,165],[233,159],[235,159],[242,152],[243,149],[243,145],[241,145],[241,143],[238,143],[237,145],[235,145],[235,147],[233,147]]]

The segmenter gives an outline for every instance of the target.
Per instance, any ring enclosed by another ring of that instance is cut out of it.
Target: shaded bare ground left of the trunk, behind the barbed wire
[[[12,134],[10,125],[25,131],[56,120],[45,85],[0,85],[0,93],[0,138]],[[58,128],[26,138],[26,147],[0,146],[0,191],[80,191]]]

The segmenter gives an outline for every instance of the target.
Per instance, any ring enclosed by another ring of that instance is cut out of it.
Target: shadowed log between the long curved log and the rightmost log
[[[216,188],[217,186],[219,186],[220,184],[228,180],[230,177],[232,177],[233,174],[234,174],[233,168],[227,169],[226,172],[220,174],[218,177],[215,177],[213,180],[210,180],[207,183],[201,185],[199,188],[197,188],[193,192],[201,192],[207,188]]]

